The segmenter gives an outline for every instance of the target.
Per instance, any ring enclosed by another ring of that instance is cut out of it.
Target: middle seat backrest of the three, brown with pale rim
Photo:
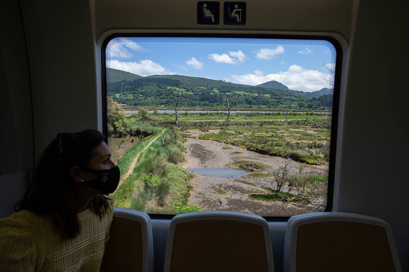
[[[171,220],[164,271],[274,271],[267,221],[240,212],[205,211]]]

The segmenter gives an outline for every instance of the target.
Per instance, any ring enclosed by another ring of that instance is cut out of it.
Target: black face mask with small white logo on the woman
[[[99,192],[101,192],[101,194],[104,195],[115,192],[115,190],[117,189],[119,184],[119,177],[121,175],[118,166],[107,170],[94,170],[90,168],[83,168],[82,170],[88,171],[97,176],[96,179],[85,181],[83,184],[85,184],[86,186],[98,190]]]

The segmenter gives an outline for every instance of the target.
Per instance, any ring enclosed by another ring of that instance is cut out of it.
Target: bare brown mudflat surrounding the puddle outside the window
[[[218,133],[219,130],[209,130],[209,132],[202,132],[201,130],[188,130],[191,136],[198,137],[207,133]],[[190,137],[191,137],[190,136]],[[185,161],[182,162],[184,168],[196,167],[222,167],[235,160],[257,161],[270,166],[282,165],[284,159],[281,157],[270,157],[261,155],[256,152],[224,144],[216,141],[187,138],[184,143],[187,148]],[[229,147],[230,149],[222,149]],[[240,154],[233,154],[233,152],[242,152]],[[308,166],[312,173],[326,175],[325,166]],[[254,172],[252,172],[254,173]],[[265,172],[259,172],[265,173]],[[249,198],[249,194],[267,194],[268,191],[233,181],[228,178],[214,178],[205,177],[194,174],[195,177],[191,180],[193,189],[190,191],[188,205],[198,205],[203,210],[227,210],[248,212],[263,216],[288,216],[296,215],[306,212],[316,212],[317,210],[310,210],[308,208],[299,208],[289,204],[287,207],[281,201],[263,201]],[[250,179],[242,176],[242,179],[247,181],[264,182],[268,181]],[[226,191],[226,194],[220,195],[215,192],[213,186]]]

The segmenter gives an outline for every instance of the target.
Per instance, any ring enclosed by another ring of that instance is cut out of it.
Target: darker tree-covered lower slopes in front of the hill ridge
[[[185,86],[178,85],[179,80],[168,78],[141,78],[137,80],[123,80],[108,85],[108,96],[119,104],[135,107],[157,107],[164,105],[173,107],[169,100],[171,91],[179,87],[184,90],[180,95],[180,106],[183,107],[214,107],[223,106],[227,98],[235,98],[237,108],[268,107],[279,108],[289,106],[292,109],[302,109],[308,104],[311,110],[332,109],[332,95],[320,97],[305,97],[290,91],[265,89],[261,87],[243,86]]]

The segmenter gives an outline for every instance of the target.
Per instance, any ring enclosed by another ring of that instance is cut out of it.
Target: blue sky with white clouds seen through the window
[[[179,74],[248,85],[276,80],[308,92],[329,87],[321,78],[328,76],[323,63],[332,64],[334,57],[325,45],[161,41],[116,38],[107,51],[107,66],[142,76]]]

